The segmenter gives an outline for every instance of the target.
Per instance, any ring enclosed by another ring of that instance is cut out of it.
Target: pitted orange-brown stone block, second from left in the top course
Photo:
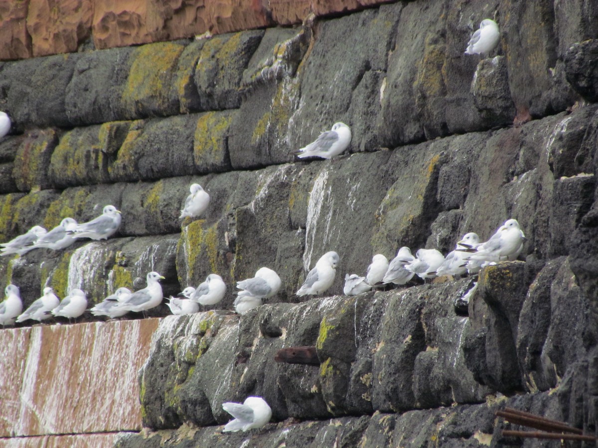
[[[77,51],[91,35],[93,0],[40,0],[29,3],[27,30],[33,56]]]

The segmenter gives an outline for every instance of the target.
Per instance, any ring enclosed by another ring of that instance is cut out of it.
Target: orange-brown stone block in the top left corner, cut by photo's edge
[[[0,59],[31,57],[31,37],[27,32],[29,0],[0,2]]]

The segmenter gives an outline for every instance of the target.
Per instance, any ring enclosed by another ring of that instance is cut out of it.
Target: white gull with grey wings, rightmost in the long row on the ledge
[[[475,253],[469,254],[468,260],[498,263],[516,260],[526,238],[516,219],[508,219],[499,227],[490,240],[476,247]]]

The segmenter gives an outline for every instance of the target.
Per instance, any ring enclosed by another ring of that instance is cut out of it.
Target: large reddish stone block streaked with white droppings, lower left
[[[0,330],[0,437],[141,429],[137,371],[158,321]]]

